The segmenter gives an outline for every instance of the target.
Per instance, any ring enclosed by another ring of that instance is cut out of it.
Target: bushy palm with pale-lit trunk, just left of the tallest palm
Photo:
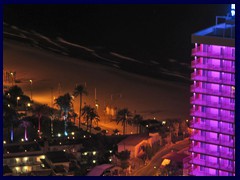
[[[55,99],[55,103],[61,111],[61,114],[63,114],[63,120],[64,120],[64,135],[67,136],[67,118],[68,118],[68,112],[72,108],[72,96],[69,93],[64,94],[63,96],[59,96],[57,99]]]

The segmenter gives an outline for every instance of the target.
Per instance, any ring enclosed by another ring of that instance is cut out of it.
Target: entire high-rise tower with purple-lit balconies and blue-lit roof
[[[189,175],[235,176],[235,18],[216,17],[192,43]]]

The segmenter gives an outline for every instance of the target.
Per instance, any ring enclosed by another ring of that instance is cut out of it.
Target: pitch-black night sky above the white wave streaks
[[[191,34],[229,5],[4,5],[4,21],[142,60],[190,61]]]

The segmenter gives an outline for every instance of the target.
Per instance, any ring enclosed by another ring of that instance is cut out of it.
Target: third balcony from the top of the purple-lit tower
[[[197,75],[196,73],[191,74],[191,79],[195,81],[203,81],[203,82],[209,82],[209,83],[235,86],[235,81],[232,81],[231,79],[227,79],[227,78],[219,79],[217,77],[206,77],[202,75]]]

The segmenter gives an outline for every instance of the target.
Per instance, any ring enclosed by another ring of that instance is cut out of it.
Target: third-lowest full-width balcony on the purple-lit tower
[[[227,147],[234,147],[234,142],[233,141],[226,141],[226,140],[221,140],[221,139],[215,139],[215,138],[210,138],[207,136],[201,136],[198,134],[192,135],[190,139],[195,140],[195,141],[202,141],[206,142],[209,144],[215,144],[215,145],[221,145],[221,146],[227,146]]]

